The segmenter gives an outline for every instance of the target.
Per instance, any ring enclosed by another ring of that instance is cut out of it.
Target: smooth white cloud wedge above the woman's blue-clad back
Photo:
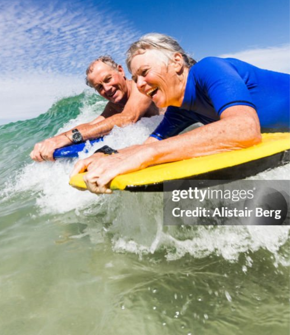
[[[263,69],[290,73],[289,45],[279,47],[259,48],[224,54],[219,57],[238,58]]]

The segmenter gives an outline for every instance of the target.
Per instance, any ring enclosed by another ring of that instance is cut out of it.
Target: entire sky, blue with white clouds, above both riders
[[[124,64],[129,44],[152,31],[197,60],[232,56],[290,72],[288,0],[1,0],[0,122],[81,92],[93,59],[109,53]]]

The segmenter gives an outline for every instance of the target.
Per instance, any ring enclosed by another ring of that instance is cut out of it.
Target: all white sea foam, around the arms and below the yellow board
[[[91,120],[96,117],[96,110],[100,111],[102,107],[102,103],[93,107],[84,106],[77,119],[68,122],[59,132]],[[90,153],[104,144],[119,149],[141,143],[160,120],[161,117],[144,118],[135,125],[115,127],[104,142],[90,148]],[[80,157],[88,155],[81,153]],[[273,254],[275,265],[289,263],[287,257],[280,253],[280,248],[289,239],[288,226],[164,227],[162,193],[117,191],[113,195],[97,196],[87,191],[80,192],[68,185],[69,173],[75,160],[29,163],[18,172],[14,182],[9,182],[7,189],[14,189],[14,194],[34,192],[36,205],[42,214],[61,214],[74,210],[80,216],[101,217],[100,223],[111,222],[106,230],[112,236],[112,248],[115,252],[142,256],[163,251],[168,260],[176,260],[187,254],[196,258],[214,254],[233,262],[238,260],[240,254],[262,248]],[[263,172],[252,179],[288,179],[288,176],[289,164]],[[89,236],[92,243],[101,243],[101,235],[99,229],[88,226],[81,236],[73,238]],[[247,261],[243,265],[243,271],[250,265]]]

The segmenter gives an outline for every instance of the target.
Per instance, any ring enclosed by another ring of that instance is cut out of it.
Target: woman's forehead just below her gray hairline
[[[130,63],[130,69],[132,75],[134,75],[140,68],[144,66],[153,66],[168,64],[170,55],[163,50],[158,49],[139,49],[132,57]]]

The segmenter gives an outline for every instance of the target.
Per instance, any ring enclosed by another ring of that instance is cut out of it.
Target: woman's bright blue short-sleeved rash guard
[[[169,106],[150,135],[159,140],[188,126],[220,120],[228,107],[254,108],[261,128],[289,129],[290,76],[234,58],[207,57],[191,67],[181,107]]]

